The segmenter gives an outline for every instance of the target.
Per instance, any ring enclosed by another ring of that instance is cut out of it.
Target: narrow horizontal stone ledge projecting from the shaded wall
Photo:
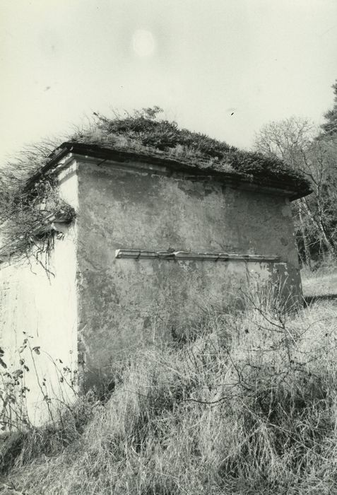
[[[240,255],[229,252],[190,252],[190,251],[147,251],[138,249],[117,249],[115,257],[120,259],[139,260],[141,258],[155,260],[199,260],[199,261],[249,261],[279,262],[279,256],[273,255]]]

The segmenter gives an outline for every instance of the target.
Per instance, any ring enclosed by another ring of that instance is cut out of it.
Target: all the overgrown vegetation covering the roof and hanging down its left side
[[[108,118],[95,113],[95,122],[66,139],[175,158],[197,168],[233,173],[244,180],[276,185],[295,193],[309,191],[305,177],[278,158],[240,151],[206,134],[179,129],[177,122],[160,120],[161,112],[162,109],[155,106],[123,117],[114,114]],[[54,232],[42,226],[53,216],[61,215],[69,222],[74,218],[71,206],[59,197],[53,168],[37,174],[49,163],[62,141],[64,139],[42,141],[24,148],[4,168],[0,177],[0,257],[4,253],[30,255],[34,251],[48,251]],[[32,180],[32,177],[35,178]]]

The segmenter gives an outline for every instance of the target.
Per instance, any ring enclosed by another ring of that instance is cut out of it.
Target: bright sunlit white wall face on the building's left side
[[[61,172],[60,178],[61,196],[76,206],[76,170],[70,167]],[[53,407],[57,404],[55,398],[72,400],[71,388],[65,382],[60,383],[60,372],[69,379],[64,368],[68,366],[73,372],[78,361],[76,226],[60,227],[64,237],[55,239],[49,260],[39,257],[52,273],[46,272],[34,257],[21,262],[12,260],[0,267],[0,347],[4,349],[6,371],[13,373],[18,368],[23,369],[20,359],[25,359],[29,368],[29,371],[24,370],[24,380],[19,381],[30,389],[26,407],[34,424],[48,418],[47,402],[43,400],[40,386],[52,398]],[[24,339],[28,339],[29,345],[19,352]],[[40,347],[37,353],[30,351],[34,347]],[[4,373],[2,368],[2,376]],[[16,419],[14,412],[13,419]]]

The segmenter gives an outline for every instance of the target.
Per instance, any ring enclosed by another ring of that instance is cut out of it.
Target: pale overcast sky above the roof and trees
[[[0,28],[1,161],[111,107],[249,148],[333,105],[337,0],[1,0]]]

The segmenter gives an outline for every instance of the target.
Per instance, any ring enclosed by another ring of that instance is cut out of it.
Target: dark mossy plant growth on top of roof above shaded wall
[[[121,153],[128,151],[158,158],[168,165],[179,162],[185,168],[207,171],[210,175],[232,174],[246,182],[290,190],[294,193],[292,198],[311,192],[304,175],[278,158],[240,151],[206,134],[179,129],[176,122],[158,120],[161,111],[159,107],[153,107],[126,117],[116,115],[112,119],[95,114],[95,126],[78,132],[68,144],[85,145],[93,151],[98,148]]]

